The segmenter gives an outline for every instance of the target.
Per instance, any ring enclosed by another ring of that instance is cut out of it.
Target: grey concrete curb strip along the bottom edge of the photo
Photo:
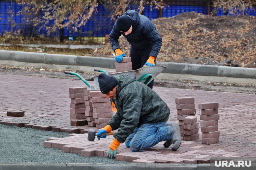
[[[0,163],[0,170],[210,170],[210,164]]]

